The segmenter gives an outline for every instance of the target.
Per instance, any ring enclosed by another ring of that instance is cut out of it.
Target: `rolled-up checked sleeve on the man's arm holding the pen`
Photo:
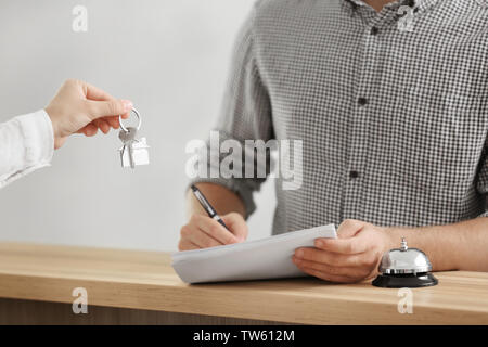
[[[266,86],[259,74],[259,64],[254,36],[256,4],[251,15],[242,26],[231,61],[231,72],[227,83],[223,104],[217,126],[220,143],[224,140],[236,140],[245,147],[246,140],[262,140],[267,142],[273,137],[271,121],[271,106]],[[208,171],[211,166],[219,165],[228,154],[215,153],[216,149],[207,142],[207,153],[218,155],[220,160],[207,160]],[[214,152],[211,152],[214,151]],[[270,153],[266,153],[267,167],[269,168]],[[244,156],[243,156],[244,158]],[[244,168],[244,163],[242,163]],[[218,169],[218,168],[214,168]],[[269,170],[267,170],[269,174]],[[211,182],[221,184],[235,192],[243,201],[246,216],[256,208],[253,192],[258,191],[266,177],[245,178],[196,178],[192,182]]]

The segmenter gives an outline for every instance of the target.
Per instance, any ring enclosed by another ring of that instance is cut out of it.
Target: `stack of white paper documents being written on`
[[[312,247],[321,237],[336,239],[335,227],[324,226],[268,239],[206,249],[174,253],[172,267],[187,283],[247,281],[306,275],[293,264],[296,248]]]

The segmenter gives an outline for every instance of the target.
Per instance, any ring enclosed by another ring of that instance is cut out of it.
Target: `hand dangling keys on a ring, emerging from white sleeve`
[[[54,149],[61,147],[75,132],[94,136],[119,127],[118,116],[129,116],[132,103],[114,99],[103,90],[84,81],[68,79],[46,107],[54,132]]]

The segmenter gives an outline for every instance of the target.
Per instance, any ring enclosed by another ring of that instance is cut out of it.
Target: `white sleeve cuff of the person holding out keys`
[[[0,124],[0,189],[49,166],[53,152],[54,134],[46,111]]]

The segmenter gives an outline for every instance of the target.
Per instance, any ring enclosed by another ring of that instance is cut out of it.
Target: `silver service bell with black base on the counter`
[[[383,255],[378,271],[380,275],[373,281],[374,286],[415,288],[438,283],[431,273],[432,265],[425,253],[418,248],[409,248],[404,237],[401,239],[400,248]]]

